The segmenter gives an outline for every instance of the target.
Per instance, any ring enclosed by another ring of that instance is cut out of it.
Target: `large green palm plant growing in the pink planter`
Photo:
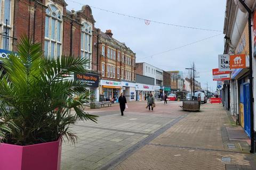
[[[87,62],[45,57],[41,44],[22,37],[17,54],[3,60],[6,73],[0,72],[0,141],[26,146],[66,137],[74,143],[70,128],[77,119],[97,121],[80,109],[89,100],[86,83],[73,80]]]

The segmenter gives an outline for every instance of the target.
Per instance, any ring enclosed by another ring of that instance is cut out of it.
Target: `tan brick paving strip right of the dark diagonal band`
[[[229,125],[226,111],[203,105],[112,169],[256,169],[255,156],[226,147],[223,125]]]

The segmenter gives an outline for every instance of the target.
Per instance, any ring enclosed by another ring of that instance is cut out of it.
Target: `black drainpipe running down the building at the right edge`
[[[239,2],[244,6],[246,11],[248,12],[248,29],[249,29],[249,61],[250,61],[250,67],[249,67],[249,80],[250,80],[250,114],[251,114],[251,150],[250,152],[252,154],[255,153],[255,136],[254,136],[254,114],[253,114],[253,77],[252,77],[252,14],[253,12],[251,9],[245,4],[244,0],[239,0]]]

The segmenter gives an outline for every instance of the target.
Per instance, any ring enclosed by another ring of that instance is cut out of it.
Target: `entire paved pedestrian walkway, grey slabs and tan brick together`
[[[152,112],[129,103],[125,116],[118,106],[89,110],[99,121],[74,126],[79,140],[63,145],[61,169],[256,169],[246,142],[229,140],[221,105],[191,113],[179,105],[158,102]]]

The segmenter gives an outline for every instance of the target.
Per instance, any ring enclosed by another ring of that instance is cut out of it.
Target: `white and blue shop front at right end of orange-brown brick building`
[[[135,101],[135,83],[122,81],[122,90],[127,101]]]

